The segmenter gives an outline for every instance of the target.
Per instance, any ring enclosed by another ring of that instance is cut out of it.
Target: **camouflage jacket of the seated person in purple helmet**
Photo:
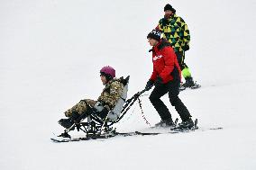
[[[123,84],[120,78],[114,78],[105,84],[103,92],[98,97],[97,101],[102,103],[102,105],[111,110],[114,108],[114,105],[117,103],[118,99],[123,93]]]

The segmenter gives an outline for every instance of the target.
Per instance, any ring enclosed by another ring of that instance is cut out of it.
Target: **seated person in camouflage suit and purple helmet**
[[[81,100],[79,103],[74,105],[71,109],[64,112],[65,116],[68,119],[59,120],[59,124],[64,128],[70,128],[75,121],[79,121],[80,116],[87,114],[88,106],[94,107],[103,106],[103,110],[98,112],[98,116],[102,119],[105,119],[108,112],[114,108],[114,105],[117,103],[118,99],[121,97],[123,92],[123,78],[115,78],[115,70],[113,67],[103,67],[100,70],[100,78],[105,85],[103,92],[98,97],[97,101],[91,99]]]

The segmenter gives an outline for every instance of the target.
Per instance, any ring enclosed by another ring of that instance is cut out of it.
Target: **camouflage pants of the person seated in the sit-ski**
[[[87,104],[89,104],[91,107],[93,107],[96,104],[96,101],[91,100],[91,99],[81,100],[79,103],[74,105],[71,109],[64,112],[64,114],[65,114],[65,116],[70,117],[73,112],[78,112],[79,114],[87,112]]]

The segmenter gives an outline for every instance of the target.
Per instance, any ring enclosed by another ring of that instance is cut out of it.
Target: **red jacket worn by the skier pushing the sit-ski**
[[[171,48],[169,42],[162,39],[156,46],[151,49],[151,51],[153,62],[151,80],[155,81],[157,77],[160,76],[164,84],[172,81],[174,78],[178,78],[180,81],[181,70],[178,66],[178,59],[174,49]],[[178,69],[178,71],[176,71],[177,73],[173,73],[175,70],[177,70],[175,68]]]

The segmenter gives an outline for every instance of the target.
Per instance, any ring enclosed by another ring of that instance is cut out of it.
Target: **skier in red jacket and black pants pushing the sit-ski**
[[[187,107],[178,97],[181,81],[181,70],[174,49],[168,40],[160,39],[160,31],[151,31],[147,39],[152,46],[153,72],[145,89],[152,90],[150,100],[154,108],[160,114],[161,121],[156,124],[158,127],[171,127],[174,125],[167,106],[160,100],[164,94],[169,94],[169,102],[175,107],[182,122],[178,124],[180,129],[190,129],[194,126]]]

